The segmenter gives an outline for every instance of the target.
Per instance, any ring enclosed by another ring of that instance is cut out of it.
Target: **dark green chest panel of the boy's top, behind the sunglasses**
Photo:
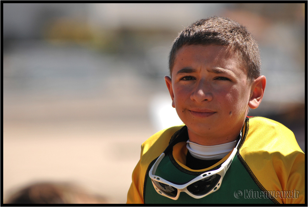
[[[148,169],[150,169],[151,166],[152,165],[150,165]],[[172,163],[169,156],[165,156],[163,158],[156,170],[156,175],[175,183],[188,182],[199,174],[201,173],[192,172],[185,169],[179,170]],[[225,174],[225,177],[221,182],[220,189],[200,199],[194,199],[184,192],[180,193],[178,200],[172,200],[164,197],[156,192],[148,173],[145,178],[144,203],[274,203],[253,181],[237,156],[235,156],[229,170]]]

